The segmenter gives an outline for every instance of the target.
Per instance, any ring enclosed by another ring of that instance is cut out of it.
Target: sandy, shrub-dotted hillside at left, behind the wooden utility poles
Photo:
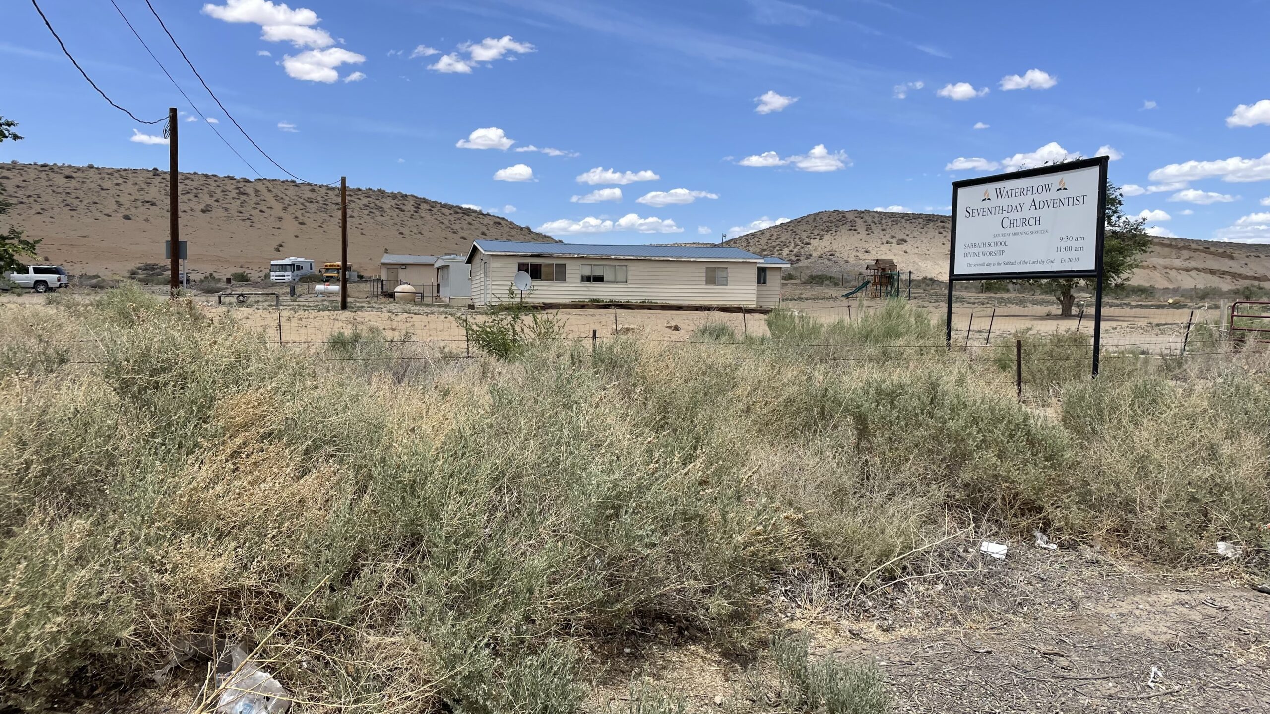
[[[180,236],[189,269],[265,271],[297,255],[339,260],[339,188],[182,173]],[[161,263],[168,173],[55,164],[0,164],[9,219],[42,239],[41,259],[71,273],[122,274]],[[348,192],[349,262],[378,273],[384,253],[461,253],[478,238],[550,241],[500,216],[382,189]]]

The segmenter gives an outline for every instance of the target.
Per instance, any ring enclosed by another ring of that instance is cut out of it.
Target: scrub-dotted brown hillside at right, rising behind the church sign
[[[795,266],[860,272],[878,258],[918,277],[947,277],[951,219],[936,213],[819,211],[728,241]],[[1130,282],[1158,287],[1237,286],[1270,282],[1270,246],[1210,240],[1154,239]]]

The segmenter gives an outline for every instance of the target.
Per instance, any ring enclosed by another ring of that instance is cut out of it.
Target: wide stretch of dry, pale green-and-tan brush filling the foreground
[[[829,334],[937,332],[894,310]],[[1240,365],[1064,382],[1050,418],[992,365],[829,361],[781,327],[325,361],[133,288],[37,313],[0,327],[0,691],[25,710],[138,686],[192,634],[263,638],[310,592],[263,649],[304,701],[564,713],[607,647],[753,650],[772,588],[845,605],[970,522],[1166,565],[1270,548],[1270,389]],[[95,342],[36,358],[44,334]]]

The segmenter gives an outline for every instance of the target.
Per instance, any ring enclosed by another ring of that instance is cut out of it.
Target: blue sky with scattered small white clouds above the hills
[[[145,3],[116,1],[243,156],[286,178]],[[828,208],[946,212],[955,179],[1105,151],[1157,232],[1270,243],[1264,0],[152,3],[301,178],[347,174],[564,240],[718,240]],[[193,113],[108,0],[41,6],[118,103]],[[161,132],[94,93],[29,4],[6,13],[0,57],[0,114],[27,137],[0,160],[166,165],[144,138]],[[204,119],[180,136],[183,170],[257,175]]]

